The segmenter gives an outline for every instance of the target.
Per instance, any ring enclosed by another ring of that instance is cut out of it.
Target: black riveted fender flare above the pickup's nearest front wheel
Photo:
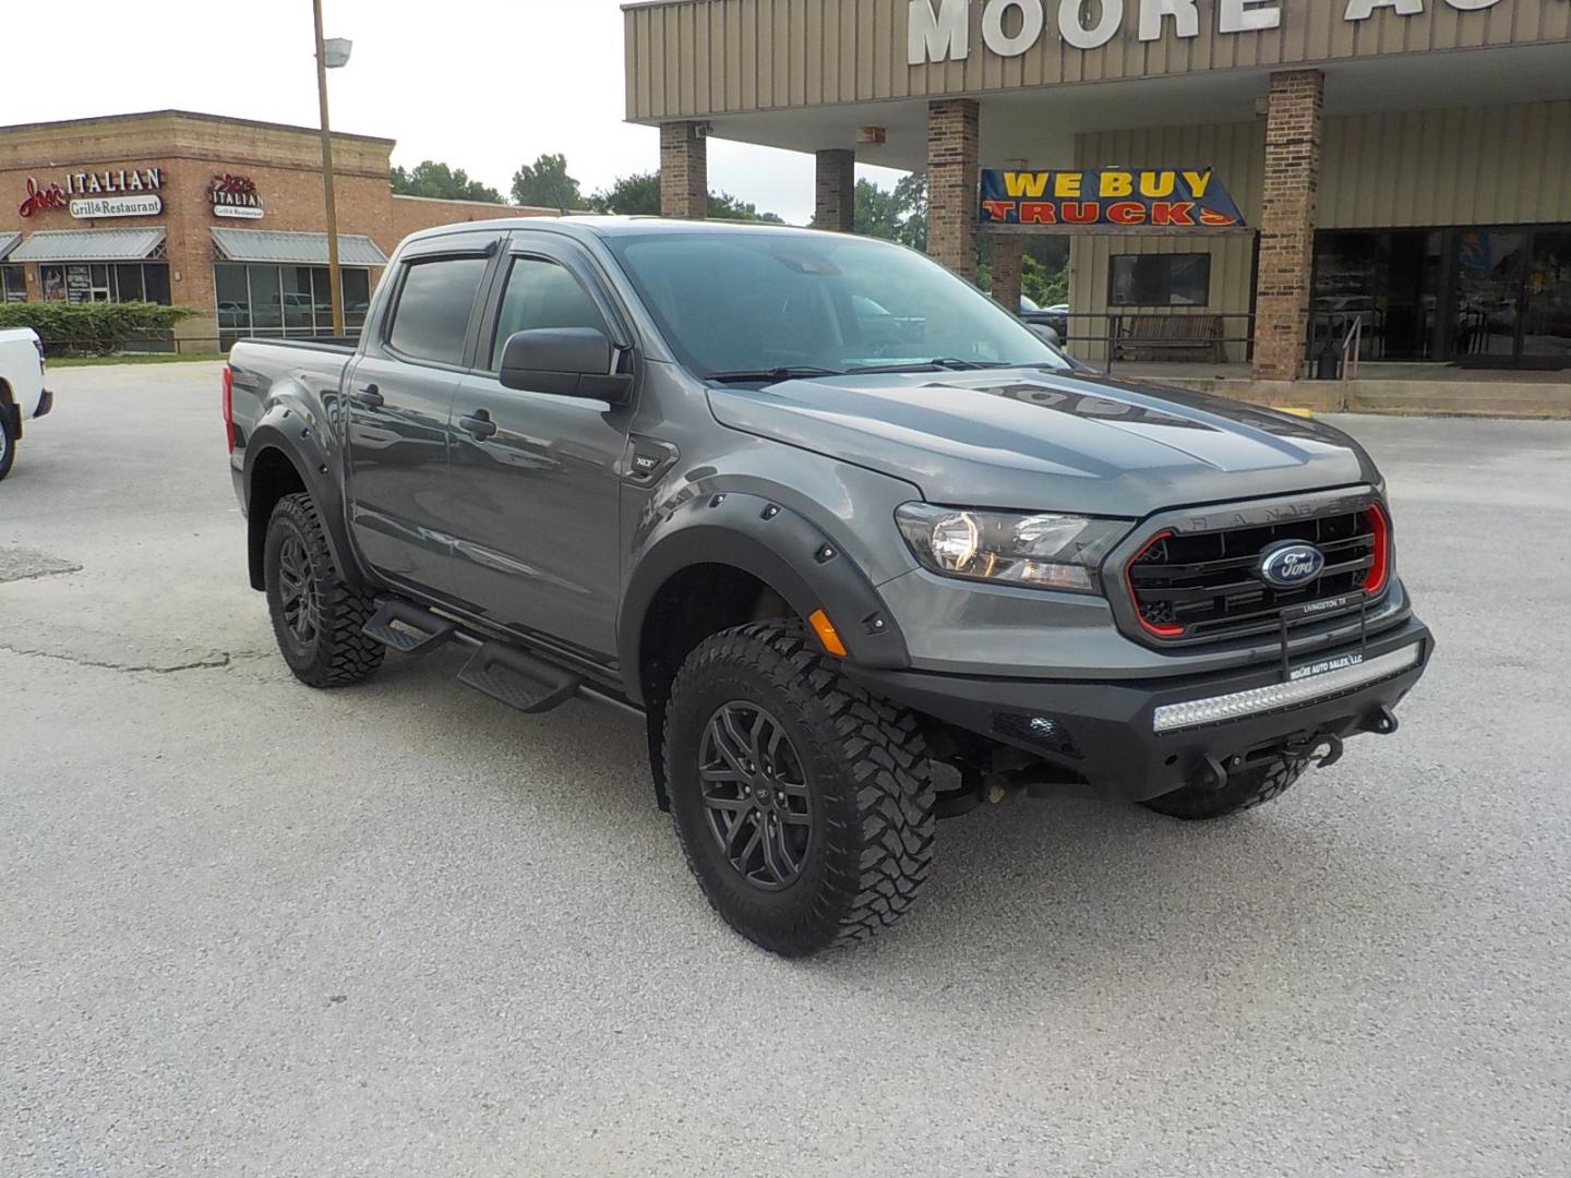
[[[644,619],[660,589],[683,569],[723,564],[773,587],[803,619],[823,609],[850,661],[881,669],[910,666],[905,635],[867,575],[815,523],[754,493],[693,495],[635,553],[622,594],[617,658],[627,694],[643,697]]]

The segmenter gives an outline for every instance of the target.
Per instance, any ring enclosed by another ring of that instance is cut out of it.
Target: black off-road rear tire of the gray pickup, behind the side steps
[[[262,576],[278,650],[295,679],[314,688],[349,686],[382,666],[386,647],[361,633],[377,609],[375,600],[355,592],[339,578],[322,518],[309,495],[286,495],[273,507],[262,550]],[[286,611],[287,586],[300,581],[314,616],[309,635],[298,633]]]

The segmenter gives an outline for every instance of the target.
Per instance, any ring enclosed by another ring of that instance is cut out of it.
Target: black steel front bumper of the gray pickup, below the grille
[[[1434,638],[1422,622],[1408,620],[1367,642],[1299,660],[1307,664],[1362,660],[1356,664],[1367,666],[1409,647],[1417,647],[1417,661],[1382,679],[1276,710],[1266,702],[1262,707],[1268,710],[1177,730],[1159,730],[1158,708],[1273,688],[1288,679],[1284,668],[1257,664],[1183,679],[1119,682],[976,679],[856,666],[847,672],[873,694],[1081,779],[1056,792],[1147,801],[1203,777],[1211,765],[1238,768],[1288,746],[1309,749],[1327,737],[1389,730],[1390,712],[1423,675],[1434,650]],[[1335,680],[1327,674],[1327,682]],[[1163,713],[1164,723],[1172,723],[1172,715]]]

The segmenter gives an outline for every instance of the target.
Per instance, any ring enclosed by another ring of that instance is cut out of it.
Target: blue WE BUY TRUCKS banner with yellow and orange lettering
[[[982,225],[1103,229],[1241,229],[1210,168],[983,171]]]

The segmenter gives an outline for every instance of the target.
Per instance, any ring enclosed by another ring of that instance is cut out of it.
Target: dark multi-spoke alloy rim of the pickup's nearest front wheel
[[[723,704],[704,729],[699,779],[709,831],[737,873],[765,892],[793,884],[817,818],[781,723],[757,704]]]

